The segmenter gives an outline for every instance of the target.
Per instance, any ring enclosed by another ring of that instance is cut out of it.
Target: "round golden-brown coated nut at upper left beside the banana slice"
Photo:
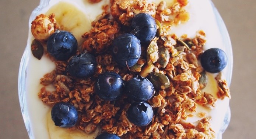
[[[56,19],[54,14],[46,16],[44,14],[36,16],[32,21],[31,33],[38,41],[47,41],[47,39],[57,29]]]

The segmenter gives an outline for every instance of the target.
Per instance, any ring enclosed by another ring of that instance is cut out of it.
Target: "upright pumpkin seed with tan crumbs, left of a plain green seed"
[[[158,46],[155,41],[151,41],[147,49],[147,63],[152,64],[158,60]]]

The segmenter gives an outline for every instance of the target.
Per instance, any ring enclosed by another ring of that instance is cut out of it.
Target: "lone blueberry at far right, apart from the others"
[[[207,72],[220,72],[227,65],[227,55],[219,48],[210,48],[201,55],[201,65]]]

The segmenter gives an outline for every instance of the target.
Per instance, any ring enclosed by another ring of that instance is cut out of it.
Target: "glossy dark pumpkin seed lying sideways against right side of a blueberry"
[[[151,73],[147,76],[148,80],[153,84],[156,90],[166,89],[170,86],[167,76],[160,73]]]

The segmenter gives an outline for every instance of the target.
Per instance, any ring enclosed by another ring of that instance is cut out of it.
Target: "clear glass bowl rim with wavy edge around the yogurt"
[[[34,20],[35,17],[41,13],[41,10],[43,8],[45,8],[49,5],[50,1],[51,0],[41,0],[39,6],[35,8],[35,10],[32,12],[32,14],[29,18],[28,44],[24,50],[24,53],[23,53],[23,56],[21,59],[20,70],[19,70],[19,75],[18,75],[18,96],[19,96],[19,101],[20,101],[20,106],[21,106],[21,113],[22,113],[25,127],[27,129],[30,139],[35,138],[34,134],[32,133],[31,120],[29,119],[29,113],[28,113],[28,99],[26,97],[26,94],[27,94],[26,90],[27,90],[27,87],[29,86],[29,84],[27,82],[27,78],[28,78],[28,74],[29,74],[28,73],[28,64],[29,64],[29,61],[31,60],[31,58],[33,58],[33,56],[31,55],[32,34],[30,31],[30,29],[31,29],[30,26],[31,26],[32,20]],[[211,1],[210,1],[210,3],[211,3],[211,7],[213,8],[215,20],[217,21],[217,26],[221,33],[222,42],[225,45],[226,54],[228,57],[227,68],[225,68],[225,70],[223,72],[225,75],[224,78],[227,80],[227,83],[230,85],[231,77],[232,77],[232,67],[233,67],[232,45],[231,45],[231,41],[230,41],[230,38],[228,35],[227,28],[220,16],[219,12],[217,11],[217,8],[214,6],[214,4]],[[229,121],[230,121],[230,108],[228,107],[226,114],[225,114],[224,121],[222,122],[221,129],[218,132],[219,134],[217,135],[217,139],[222,138],[222,133],[228,127]]]

